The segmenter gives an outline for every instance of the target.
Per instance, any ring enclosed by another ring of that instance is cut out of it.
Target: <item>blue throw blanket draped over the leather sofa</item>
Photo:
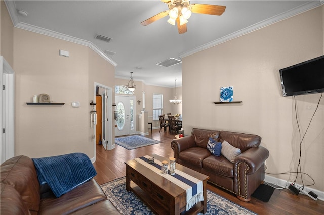
[[[90,180],[97,172],[86,154],[32,158],[39,183],[47,183],[56,197]]]

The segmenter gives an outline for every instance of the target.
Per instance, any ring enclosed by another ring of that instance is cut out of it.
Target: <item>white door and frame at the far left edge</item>
[[[15,156],[15,72],[3,56],[0,56],[0,162]],[[5,133],[3,134],[3,129]]]

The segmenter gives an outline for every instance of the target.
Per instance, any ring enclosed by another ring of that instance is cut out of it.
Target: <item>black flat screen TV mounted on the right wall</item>
[[[324,92],[324,56],[280,69],[284,96]]]

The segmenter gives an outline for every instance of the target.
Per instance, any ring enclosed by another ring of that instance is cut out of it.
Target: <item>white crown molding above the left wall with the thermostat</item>
[[[32,31],[32,32],[39,33],[39,34],[43,34],[43,35],[47,35],[47,36],[50,36],[50,37],[62,39],[62,40],[65,40],[65,41],[73,42],[73,43],[76,43],[76,44],[88,46],[93,51],[95,51],[99,56],[101,56],[103,59],[108,61],[110,64],[112,64],[113,66],[117,66],[116,62],[114,62],[108,56],[106,56],[105,53],[103,51],[101,51],[92,42],[89,42],[89,41],[83,40],[83,39],[79,39],[79,38],[76,38],[76,37],[68,36],[68,35],[65,35],[65,34],[61,34],[61,33],[51,31],[51,30],[48,30],[48,29],[45,29],[45,28],[30,25],[30,24],[27,24],[27,23],[19,22],[15,2],[14,1],[5,1],[5,4],[6,4],[6,7],[8,9],[8,12],[9,12],[9,15],[10,15],[10,18],[11,18],[11,20],[13,22],[14,27],[24,29],[24,30],[28,30],[28,31]]]

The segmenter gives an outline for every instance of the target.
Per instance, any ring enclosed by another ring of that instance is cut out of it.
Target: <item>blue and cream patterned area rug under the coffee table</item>
[[[133,193],[126,191],[126,177],[100,185],[107,198],[121,214],[154,214]],[[201,214],[201,213],[200,213]],[[207,213],[210,214],[256,214],[207,190]]]

